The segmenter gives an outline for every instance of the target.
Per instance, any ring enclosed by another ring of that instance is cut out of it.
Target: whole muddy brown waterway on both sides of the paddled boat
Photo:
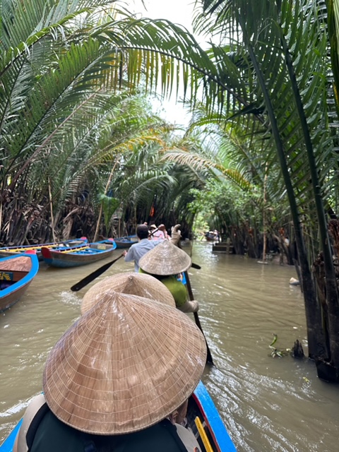
[[[90,285],[69,287],[108,261],[74,269],[42,263],[25,297],[0,314],[0,444],[42,390],[49,350],[80,315]],[[270,356],[273,334],[277,348],[299,339],[307,355],[304,300],[289,285],[294,268],[213,254],[208,243],[194,244],[193,261],[201,270],[189,276],[215,363],[203,381],[237,451],[338,451],[338,386],[319,380],[308,359]],[[119,260],[101,278],[121,271],[133,265]]]

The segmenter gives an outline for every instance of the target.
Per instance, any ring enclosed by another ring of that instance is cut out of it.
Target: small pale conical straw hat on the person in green
[[[176,275],[190,266],[189,255],[168,240],[148,251],[139,261],[139,267],[151,275]]]

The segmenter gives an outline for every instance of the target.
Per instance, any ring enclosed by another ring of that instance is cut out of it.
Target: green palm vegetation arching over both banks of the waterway
[[[237,253],[295,263],[309,356],[339,381],[333,3],[197,1],[195,27],[207,50],[118,2],[1,3],[0,242],[142,221],[191,237],[203,214]],[[154,92],[184,98],[186,130],[157,117]]]

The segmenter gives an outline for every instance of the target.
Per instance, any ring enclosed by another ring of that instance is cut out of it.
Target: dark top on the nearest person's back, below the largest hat
[[[33,418],[26,442],[29,452],[187,452],[176,427],[165,419],[139,432],[93,435],[61,422],[44,403]],[[190,451],[194,452],[194,450]]]

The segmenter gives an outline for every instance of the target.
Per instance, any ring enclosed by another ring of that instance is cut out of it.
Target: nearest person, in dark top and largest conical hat
[[[174,421],[203,374],[203,334],[166,304],[100,295],[49,353],[45,402],[28,406],[13,452],[200,452]]]

